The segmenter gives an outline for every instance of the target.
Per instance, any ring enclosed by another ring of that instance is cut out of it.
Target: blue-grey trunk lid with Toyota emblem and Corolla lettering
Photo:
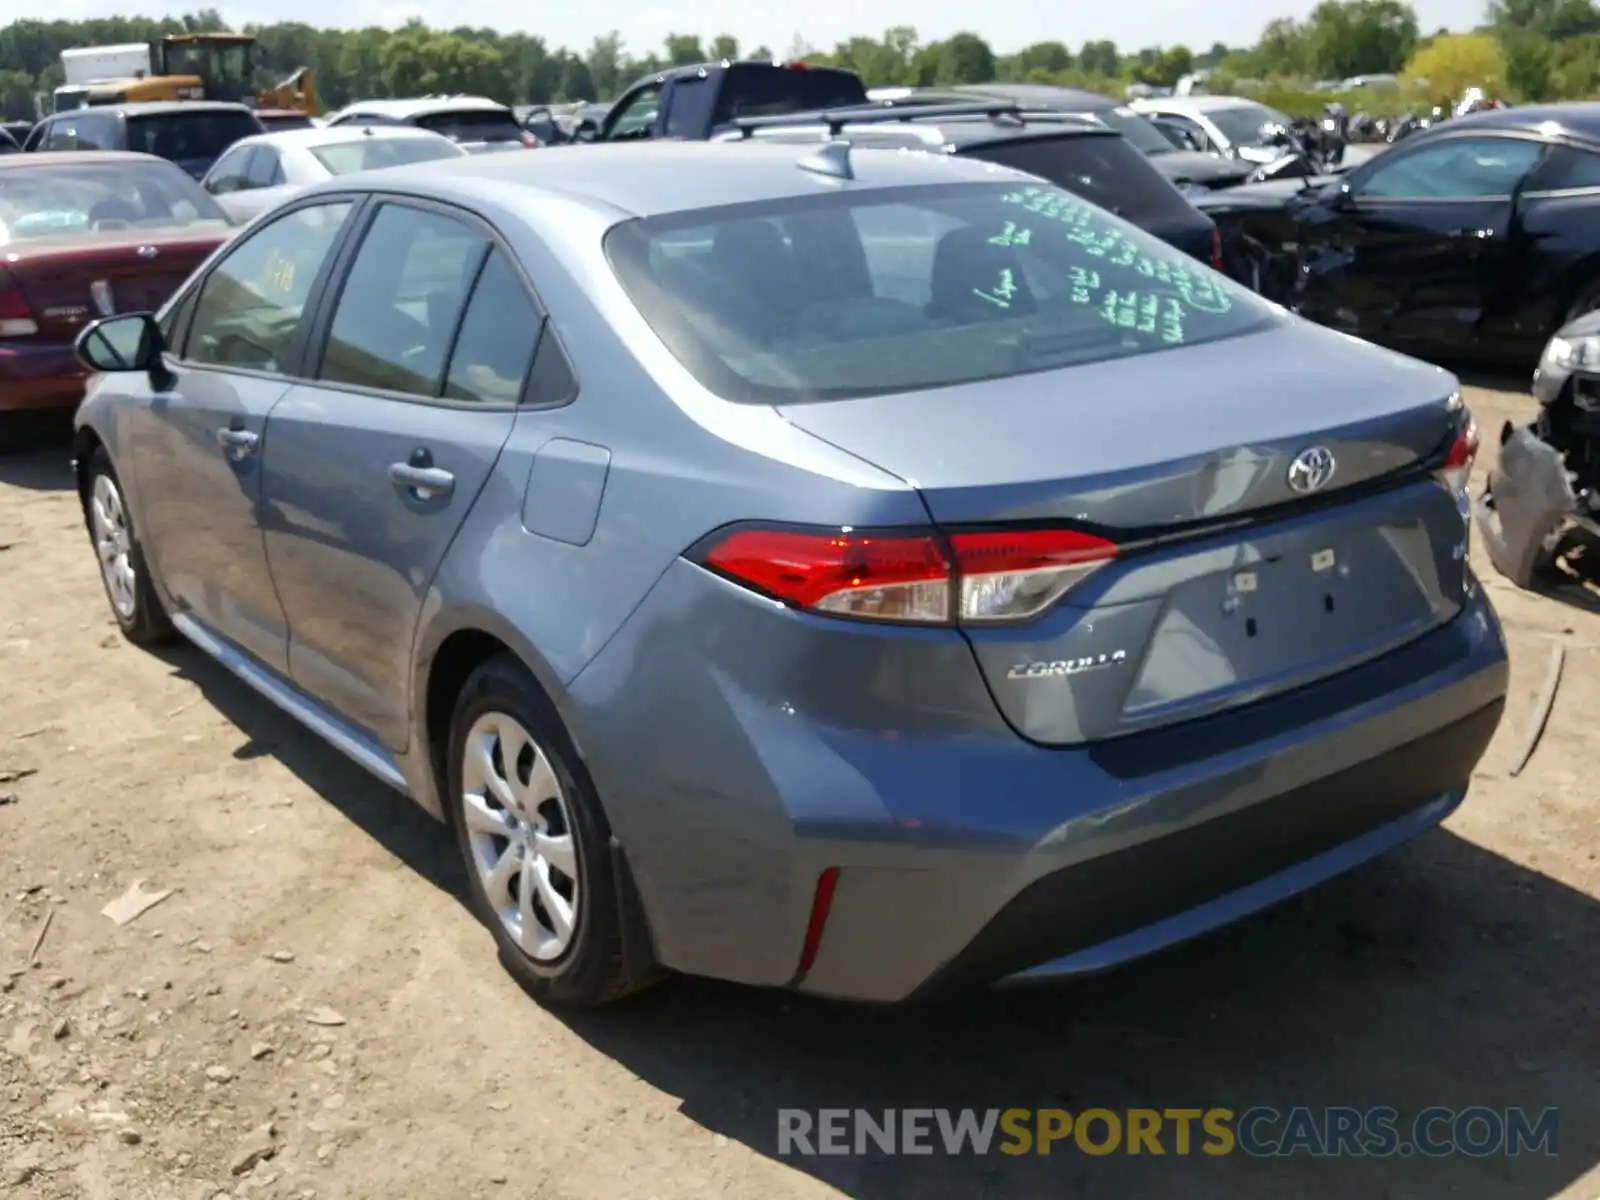
[[[914,483],[942,528],[1088,525],[1125,550],[1034,621],[966,637],[1024,736],[1077,744],[1299,686],[1459,611],[1466,523],[1434,478],[1438,368],[1301,322],[1006,381],[790,405]],[[1290,464],[1323,448],[1315,502]],[[1397,477],[1397,478],[1389,478]]]

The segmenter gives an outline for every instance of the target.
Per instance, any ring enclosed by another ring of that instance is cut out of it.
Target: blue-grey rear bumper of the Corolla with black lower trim
[[[573,682],[568,718],[667,966],[893,1002],[1149,954],[1442,821],[1507,675],[1474,589],[1450,624],[1269,702],[1045,749],[994,720],[970,654],[907,638],[896,661],[880,630],[680,563]],[[915,677],[926,661],[938,680]]]

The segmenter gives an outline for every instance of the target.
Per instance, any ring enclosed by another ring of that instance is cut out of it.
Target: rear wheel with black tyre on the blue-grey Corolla
[[[624,957],[611,830],[555,706],[493,658],[450,723],[445,808],[474,914],[541,1003],[590,1008],[650,982]]]

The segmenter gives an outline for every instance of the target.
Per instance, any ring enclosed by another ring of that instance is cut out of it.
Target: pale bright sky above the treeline
[[[56,0],[54,18],[85,18],[200,8],[203,0],[171,3],[114,3],[112,0]],[[395,26],[418,16],[437,26],[490,26],[539,32],[552,45],[587,46],[597,34],[618,29],[635,51],[659,45],[669,32],[714,35],[728,32],[754,48],[766,43],[784,53],[798,35],[827,48],[851,34],[877,34],[888,26],[915,26],[925,38],[970,29],[995,50],[1018,50],[1029,42],[1056,38],[1077,48],[1090,38],[1110,38],[1125,50],[1187,43],[1203,50],[1213,42],[1254,42],[1275,16],[1304,16],[1315,0],[1138,0],[1138,3],[1054,5],[1043,0],[805,0],[803,3],[741,3],[739,0],[544,0],[506,5],[496,0],[235,0],[218,8],[234,22],[306,21],[310,24]],[[1414,0],[1424,30],[1467,29],[1482,19],[1483,0]],[[1080,11],[1072,13],[1072,8]],[[341,16],[334,21],[331,14]],[[0,22],[35,16],[37,5],[0,0]],[[870,16],[867,16],[870,13]]]

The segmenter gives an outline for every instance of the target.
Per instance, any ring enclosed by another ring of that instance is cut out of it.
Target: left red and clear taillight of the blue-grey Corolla
[[[1078,530],[738,530],[706,566],[795,608],[874,621],[1021,621],[1117,557]]]

